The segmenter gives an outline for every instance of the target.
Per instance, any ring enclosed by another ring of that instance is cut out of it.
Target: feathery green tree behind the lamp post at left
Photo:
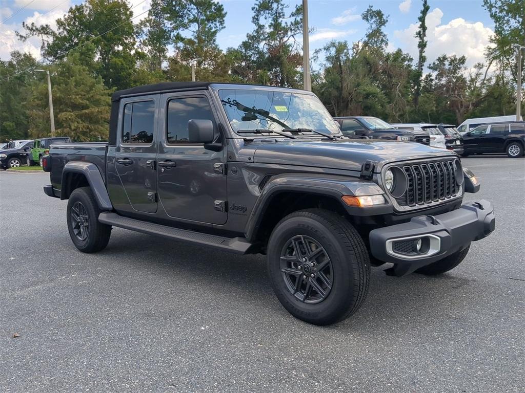
[[[107,139],[112,91],[104,86],[102,78],[92,77],[78,53],[48,69],[53,83],[56,135],[79,141]],[[50,136],[45,83],[33,84],[27,110],[30,136]]]

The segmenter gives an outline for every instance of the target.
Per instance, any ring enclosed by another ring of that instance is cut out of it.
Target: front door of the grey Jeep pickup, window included
[[[181,221],[226,222],[226,149],[212,151],[188,141],[188,121],[211,120],[216,114],[206,92],[166,93],[157,155],[159,202]],[[221,136],[223,138],[224,136]]]

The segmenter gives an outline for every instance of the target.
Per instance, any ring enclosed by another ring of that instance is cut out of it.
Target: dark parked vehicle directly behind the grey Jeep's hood
[[[428,133],[397,129],[377,117],[344,116],[334,117],[334,120],[339,123],[343,135],[348,138],[402,140],[430,145]]]

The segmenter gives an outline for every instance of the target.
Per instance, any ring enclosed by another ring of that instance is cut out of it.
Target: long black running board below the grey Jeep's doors
[[[99,215],[102,224],[118,226],[135,232],[159,235],[177,241],[223,249],[236,254],[246,254],[252,245],[244,237],[222,237],[194,231],[182,230],[171,226],[130,219],[116,213],[102,212]]]

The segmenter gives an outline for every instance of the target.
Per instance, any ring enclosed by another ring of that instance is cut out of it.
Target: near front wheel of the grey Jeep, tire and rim
[[[274,228],[268,274],[283,307],[296,318],[329,325],[348,318],[366,297],[369,254],[355,228],[322,209],[291,213]]]

